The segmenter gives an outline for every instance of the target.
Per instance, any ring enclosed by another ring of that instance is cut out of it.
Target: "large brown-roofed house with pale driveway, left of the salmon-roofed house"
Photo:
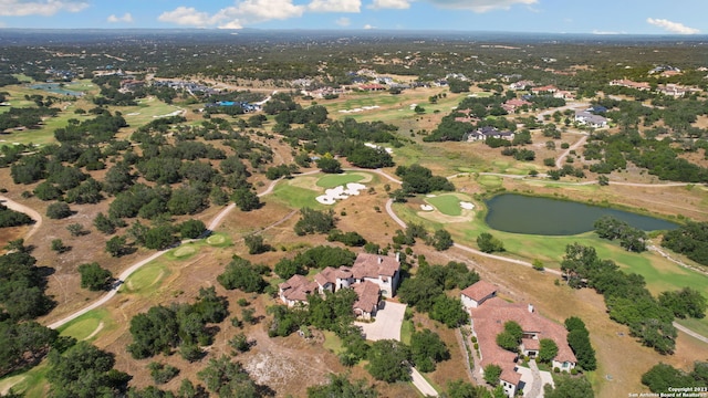
[[[352,266],[327,266],[314,275],[314,281],[294,275],[280,284],[280,300],[293,306],[306,304],[308,295],[334,293],[343,287],[354,289],[357,300],[353,304],[357,317],[369,320],[376,315],[381,296],[393,297],[400,282],[400,261],[378,254],[360,253]]]

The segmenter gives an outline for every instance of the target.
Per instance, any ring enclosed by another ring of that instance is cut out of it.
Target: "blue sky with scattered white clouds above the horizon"
[[[708,34],[707,0],[0,0],[0,28]]]

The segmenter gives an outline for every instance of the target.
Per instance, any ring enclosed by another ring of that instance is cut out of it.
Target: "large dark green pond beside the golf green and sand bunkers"
[[[487,201],[486,222],[504,232],[572,235],[594,230],[593,223],[611,216],[644,231],[678,228],[677,223],[628,211],[550,198],[503,193]]]

